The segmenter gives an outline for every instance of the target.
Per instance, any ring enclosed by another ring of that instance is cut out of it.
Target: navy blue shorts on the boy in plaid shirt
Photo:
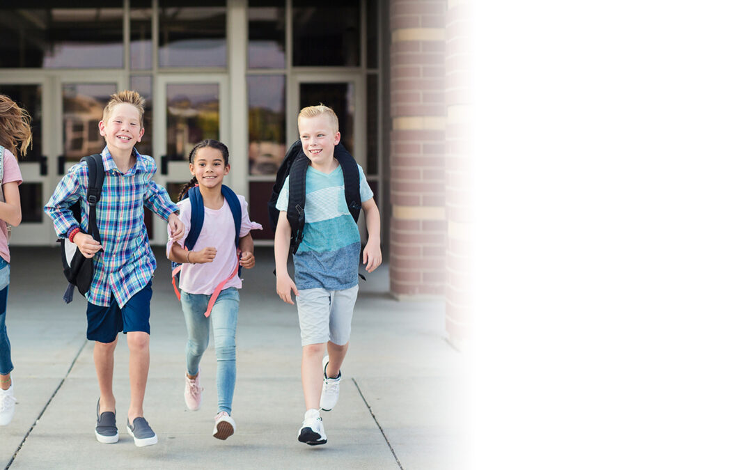
[[[111,343],[120,332],[144,332],[149,335],[151,315],[151,281],[120,309],[114,296],[109,307],[86,302],[86,339]]]

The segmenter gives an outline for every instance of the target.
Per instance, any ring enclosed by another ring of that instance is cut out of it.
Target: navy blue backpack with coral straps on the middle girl
[[[233,190],[229,188],[229,186],[222,185],[222,196],[227,201],[227,204],[230,206],[230,211],[232,212],[232,220],[235,221],[235,248],[240,248],[240,225],[241,225],[241,210],[240,210],[240,200],[238,199],[238,195],[235,194]],[[201,196],[201,191],[199,191],[198,186],[193,186],[188,192],[183,196],[183,199],[190,199],[190,230],[188,231],[188,236],[186,237],[186,243],[184,245],[184,248],[186,250],[193,250],[193,247],[196,246],[196,241],[199,239],[199,234],[201,233],[201,229],[204,226],[204,198]],[[175,290],[175,295],[177,296],[177,299],[180,300],[180,290],[177,289],[177,282],[180,280],[180,269],[183,268],[183,263],[180,262],[172,262],[172,287]],[[232,277],[235,277],[235,274],[240,275],[240,258],[238,257],[238,267],[235,271],[232,271],[232,274],[230,274],[230,277],[228,277],[226,280],[223,280],[219,286],[217,286],[217,289],[214,290],[214,293],[211,295],[211,299],[209,300],[209,306],[206,310],[205,316],[208,317],[211,313],[211,308],[214,306],[214,301],[217,299],[217,296],[220,295],[220,292],[222,291],[222,287],[224,287],[225,283],[232,279]]]

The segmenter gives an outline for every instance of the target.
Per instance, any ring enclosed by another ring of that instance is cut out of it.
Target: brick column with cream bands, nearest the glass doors
[[[446,0],[390,0],[390,290],[444,294]]]

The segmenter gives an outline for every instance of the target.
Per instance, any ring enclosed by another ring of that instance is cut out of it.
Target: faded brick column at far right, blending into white
[[[472,135],[469,111],[472,71],[472,0],[449,0],[447,4],[446,52],[446,206],[447,206],[447,293],[446,329],[450,342],[468,339],[472,323],[472,271],[469,229],[473,168],[468,155],[468,135]],[[476,175],[477,176],[477,175]],[[477,180],[477,177],[475,178]]]

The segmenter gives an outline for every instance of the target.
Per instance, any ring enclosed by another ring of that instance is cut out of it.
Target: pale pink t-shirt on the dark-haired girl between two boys
[[[238,199],[241,208],[240,236],[244,237],[258,224],[252,223],[248,218],[248,203],[245,198],[238,194]],[[180,221],[185,225],[183,238],[179,241],[180,246],[183,246],[190,231],[190,200],[183,199],[177,203],[177,207],[180,208]],[[171,235],[169,226],[168,233]],[[168,254],[173,243],[173,241],[167,242]],[[196,246],[191,251],[201,251],[205,247],[217,248],[217,256],[212,262],[195,265],[183,263],[183,269],[180,271],[180,289],[187,293],[211,295],[220,282],[227,279],[238,265],[237,250],[235,250],[235,221],[232,220],[232,211],[227,201],[218,210],[204,206],[204,225],[196,240]],[[240,277],[235,274],[235,277],[225,284],[225,288],[227,287],[240,289],[242,287]]]

